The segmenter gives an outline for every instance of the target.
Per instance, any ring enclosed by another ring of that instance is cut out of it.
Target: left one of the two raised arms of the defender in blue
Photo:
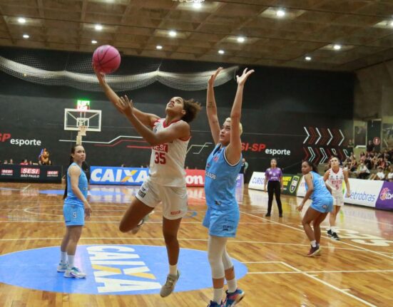
[[[206,113],[208,115],[210,131],[212,132],[212,137],[214,144],[218,144],[220,141],[220,124],[218,123],[217,115],[217,105],[215,104],[214,95],[214,81],[223,68],[219,67],[208,80],[208,92],[206,97]]]

